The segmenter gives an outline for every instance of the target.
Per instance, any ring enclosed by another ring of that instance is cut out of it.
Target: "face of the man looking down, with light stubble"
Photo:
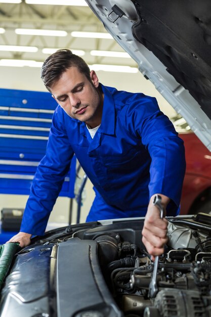
[[[95,71],[91,71],[90,77],[92,83],[72,66],[51,86],[51,92],[69,116],[95,128],[101,123],[103,95],[97,89],[99,82]]]

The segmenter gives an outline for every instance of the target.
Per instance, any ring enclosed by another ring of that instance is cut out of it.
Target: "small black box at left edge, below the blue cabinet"
[[[2,230],[19,231],[24,209],[3,208],[2,209]]]

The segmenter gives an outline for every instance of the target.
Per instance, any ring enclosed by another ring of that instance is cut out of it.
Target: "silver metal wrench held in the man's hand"
[[[163,218],[163,207],[162,207],[162,202],[161,202],[161,196],[160,195],[155,195],[154,200],[153,200],[153,205],[157,206],[157,208],[160,211],[160,218]],[[152,274],[152,279],[149,284],[149,297],[154,298],[158,292],[157,284],[156,284],[156,278],[157,278],[157,269],[158,269],[158,259],[159,256],[155,256],[154,260],[154,268],[153,268],[153,274]]]

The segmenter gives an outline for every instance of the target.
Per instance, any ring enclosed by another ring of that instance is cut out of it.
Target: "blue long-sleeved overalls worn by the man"
[[[102,122],[93,139],[85,123],[56,108],[21,231],[45,232],[74,153],[96,191],[87,221],[144,216],[154,193],[171,198],[167,215],[179,212],[185,154],[171,121],[155,98],[101,87]]]

